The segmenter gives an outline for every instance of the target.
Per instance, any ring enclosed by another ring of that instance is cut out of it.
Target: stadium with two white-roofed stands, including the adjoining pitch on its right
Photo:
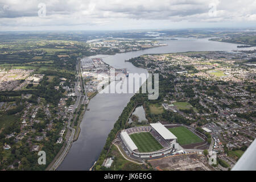
[[[207,140],[187,126],[162,125],[160,122],[122,130],[119,137],[127,151],[137,158],[172,154],[184,148],[203,146]]]

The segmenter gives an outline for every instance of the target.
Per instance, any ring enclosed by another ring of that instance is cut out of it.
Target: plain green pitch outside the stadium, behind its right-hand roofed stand
[[[177,143],[179,143],[181,146],[204,141],[184,126],[173,127],[169,130],[177,137]]]

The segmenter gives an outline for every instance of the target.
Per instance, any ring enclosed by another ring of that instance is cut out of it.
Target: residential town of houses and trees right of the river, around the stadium
[[[166,155],[163,159],[142,160],[143,165],[158,170],[230,170],[256,138],[256,68],[251,64],[254,59],[255,53],[223,51],[142,55],[130,59],[137,67],[159,73],[158,100],[143,101],[139,94],[133,99],[144,103],[147,122],[159,121],[166,126],[181,123],[204,134],[209,144],[208,150],[185,149],[179,152],[184,157]],[[127,123],[126,128],[139,129],[142,125],[139,117],[141,114],[131,114],[129,121],[133,122]],[[149,126],[147,122],[143,126]],[[139,164],[125,148],[121,153]],[[208,159],[213,155],[217,155],[217,164],[209,166]],[[112,158],[118,165],[119,159]]]

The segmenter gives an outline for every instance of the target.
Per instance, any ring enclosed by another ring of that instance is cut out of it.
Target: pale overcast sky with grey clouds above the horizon
[[[255,0],[0,0],[0,31],[256,27]]]

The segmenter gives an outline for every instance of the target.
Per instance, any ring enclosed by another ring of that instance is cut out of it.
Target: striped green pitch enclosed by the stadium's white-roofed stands
[[[149,132],[131,134],[130,138],[138,147],[139,152],[153,152],[163,148]]]

